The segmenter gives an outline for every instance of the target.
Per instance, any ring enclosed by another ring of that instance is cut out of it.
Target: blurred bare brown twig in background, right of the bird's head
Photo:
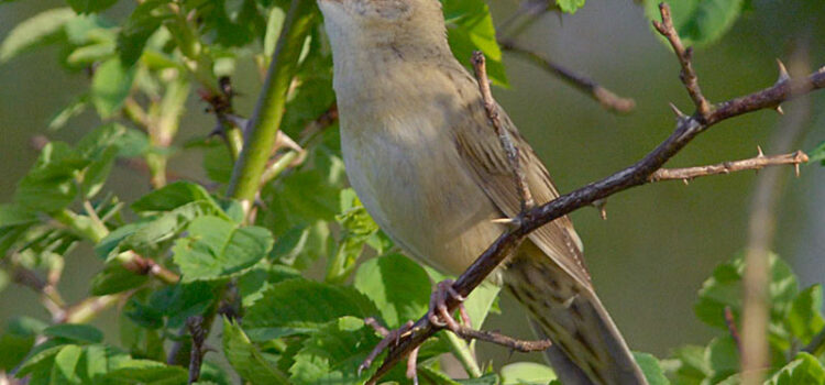
[[[499,41],[498,44],[502,46],[502,50],[517,54],[530,61],[530,63],[539,68],[558,76],[568,85],[573,86],[593,98],[595,101],[598,101],[598,103],[608,111],[628,113],[636,108],[636,101],[634,99],[623,98],[607,88],[600,86],[594,80],[562,67],[537,52],[518,46],[512,41]]]

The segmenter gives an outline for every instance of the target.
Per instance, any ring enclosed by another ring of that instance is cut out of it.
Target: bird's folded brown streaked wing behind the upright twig
[[[450,114],[455,117],[452,122],[455,145],[487,197],[504,216],[516,217],[521,209],[521,199],[506,153],[487,119],[475,79],[465,73],[461,80],[465,87],[462,92],[473,91],[470,95],[479,95],[479,98],[459,107],[464,113]],[[466,89],[466,81],[475,89]],[[518,147],[520,167],[536,204],[542,205],[556,199],[559,191],[550,180],[547,168],[501,107],[498,111],[502,125],[507,129]],[[590,273],[582,258],[581,241],[566,216],[537,229],[530,233],[529,239],[584,287],[592,287]]]

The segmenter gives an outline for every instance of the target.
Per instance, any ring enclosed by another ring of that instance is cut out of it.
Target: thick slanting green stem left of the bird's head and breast
[[[284,117],[284,105],[293,80],[304,41],[315,19],[315,1],[293,0],[277,47],[255,108],[250,128],[244,135],[244,146],[232,170],[228,195],[241,200],[249,210],[261,187],[261,176],[270,160],[272,147]]]

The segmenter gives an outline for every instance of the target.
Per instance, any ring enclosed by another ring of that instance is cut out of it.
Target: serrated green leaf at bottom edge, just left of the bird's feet
[[[360,384],[374,367],[359,375],[359,365],[378,343],[375,332],[360,319],[330,321],[304,342],[289,369],[294,384]]]

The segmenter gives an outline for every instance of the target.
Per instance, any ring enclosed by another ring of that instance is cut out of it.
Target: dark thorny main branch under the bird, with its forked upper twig
[[[669,20],[668,7],[661,7],[661,11],[663,20]],[[669,36],[675,33],[672,23],[660,23],[660,25],[662,25],[660,33],[663,35]],[[672,42],[673,40],[671,40]],[[690,55],[684,55],[684,53],[685,51],[676,50],[679,61],[683,65],[683,70],[685,66],[692,68],[690,65]],[[690,74],[693,74],[692,69]],[[685,79],[688,79],[684,81],[686,88],[693,88],[694,91],[698,90],[698,82],[695,79],[689,79],[688,77]],[[541,226],[584,206],[590,206],[596,200],[605,199],[616,193],[650,183],[651,175],[684,148],[696,135],[713,124],[748,112],[776,108],[783,101],[823,87],[825,87],[825,67],[800,79],[783,78],[780,76],[779,81],[771,87],[713,106],[701,96],[701,92],[697,92],[696,98],[694,98],[696,111],[693,116],[679,117],[673,133],[642,160],[602,180],[591,183],[525,212],[518,226],[498,237],[464,274],[455,280],[453,288],[462,296],[470,295],[515,250],[521,240]],[[691,95],[693,96],[693,94]],[[703,100],[704,102],[702,102]],[[702,107],[705,102],[707,103],[707,108]],[[459,302],[453,298],[448,298],[447,305],[450,311],[453,311],[459,306]],[[413,326],[408,334],[402,337],[398,343],[389,346],[383,364],[373,374],[367,384],[376,383],[398,361],[437,331],[439,331],[439,328],[432,326],[426,316],[420,318]]]

